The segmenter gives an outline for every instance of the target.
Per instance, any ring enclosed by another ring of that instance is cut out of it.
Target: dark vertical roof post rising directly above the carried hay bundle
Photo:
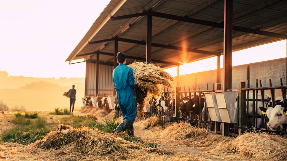
[[[146,31],[146,62],[152,62],[152,15],[147,16],[147,31]]]

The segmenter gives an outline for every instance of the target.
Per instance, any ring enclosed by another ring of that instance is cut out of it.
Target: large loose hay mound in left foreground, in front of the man
[[[88,127],[70,128],[67,130],[53,131],[44,139],[36,141],[34,146],[41,149],[59,149],[69,154],[77,151],[82,154],[106,155],[112,152],[128,153],[126,141],[109,133]]]

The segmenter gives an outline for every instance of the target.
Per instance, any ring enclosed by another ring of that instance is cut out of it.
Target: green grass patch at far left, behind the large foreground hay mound
[[[3,142],[27,145],[43,139],[50,132],[50,129],[46,127],[45,120],[42,118],[30,120],[25,117],[16,117],[11,122],[20,125],[20,127],[3,131],[1,134],[1,141]]]

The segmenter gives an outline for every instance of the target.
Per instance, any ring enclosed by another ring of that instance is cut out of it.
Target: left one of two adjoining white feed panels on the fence
[[[212,121],[222,122],[214,92],[204,93],[208,113]]]

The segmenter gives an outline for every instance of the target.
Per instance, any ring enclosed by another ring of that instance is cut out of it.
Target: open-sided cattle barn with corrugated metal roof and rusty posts
[[[232,67],[232,52],[287,39],[286,8],[287,1],[280,0],[111,0],[66,61],[86,62],[85,96],[115,95],[112,71],[119,51],[127,55],[127,64],[177,66],[176,111],[183,95],[237,91],[237,121],[224,122],[221,131],[228,135],[229,126],[248,124],[248,107],[240,100],[251,99],[257,106],[258,92],[269,90],[272,104],[275,90],[286,95],[286,58],[271,60],[271,54],[268,62]],[[217,57],[217,70],[179,75],[183,63],[210,57]],[[248,98],[250,91],[253,98]],[[257,126],[254,108],[252,124]],[[176,112],[175,117],[181,116]]]

